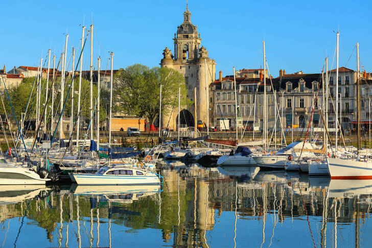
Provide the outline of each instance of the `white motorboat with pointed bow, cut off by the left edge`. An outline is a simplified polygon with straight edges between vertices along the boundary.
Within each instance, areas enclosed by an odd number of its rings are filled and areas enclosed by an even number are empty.
[[[5,160],[4,160],[5,161]],[[28,167],[0,162],[0,185],[45,185],[49,178],[41,178]]]

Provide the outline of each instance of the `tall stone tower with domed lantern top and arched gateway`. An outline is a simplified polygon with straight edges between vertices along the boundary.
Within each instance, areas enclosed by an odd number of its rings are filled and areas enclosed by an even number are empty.
[[[198,120],[206,121],[207,97],[205,78],[207,85],[214,82],[216,79],[215,68],[216,62],[208,57],[208,51],[204,47],[200,47],[200,34],[198,34],[197,26],[191,23],[191,12],[186,7],[183,13],[183,22],[177,27],[177,34],[174,34],[174,56],[171,51],[166,48],[164,50],[164,58],[161,59],[160,66],[167,66],[184,76],[185,84],[188,88],[188,98],[194,101],[194,87],[197,90],[197,117]],[[206,60],[206,72],[205,72]],[[206,73],[206,77],[205,77]],[[175,129],[180,116],[180,124],[194,126],[194,109],[193,106],[181,106],[181,112],[175,114],[176,108],[173,109],[173,114],[170,112],[162,113],[162,127],[166,127],[169,121],[169,128]],[[180,114],[180,115],[179,115]]]

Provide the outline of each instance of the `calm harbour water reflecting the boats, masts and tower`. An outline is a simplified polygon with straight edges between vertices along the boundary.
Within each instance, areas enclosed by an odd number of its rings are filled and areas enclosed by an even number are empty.
[[[372,181],[166,163],[163,186],[0,186],[0,247],[371,247]]]

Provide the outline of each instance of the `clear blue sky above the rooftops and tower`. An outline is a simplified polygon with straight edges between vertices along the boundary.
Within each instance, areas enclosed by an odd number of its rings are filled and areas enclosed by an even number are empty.
[[[69,34],[68,49],[78,48],[81,27],[95,25],[94,61],[100,53],[106,68],[113,51],[114,68],[142,63],[157,66],[165,47],[183,21],[186,1],[2,1],[0,67],[36,66],[49,48],[57,57]],[[371,1],[189,1],[191,21],[198,26],[202,45],[223,75],[257,68],[263,62],[262,40],[272,76],[318,73],[328,54],[330,64],[340,30],[340,66],[360,44],[362,69],[372,72]],[[87,48],[84,69],[88,70]],[[69,56],[68,52],[68,56]],[[331,65],[330,65],[331,67]],[[333,66],[335,67],[335,65]],[[356,69],[356,52],[347,67]]]

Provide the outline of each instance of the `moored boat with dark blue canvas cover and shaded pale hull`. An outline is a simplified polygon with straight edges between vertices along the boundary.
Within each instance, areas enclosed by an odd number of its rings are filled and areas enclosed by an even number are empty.
[[[249,148],[238,146],[236,151],[231,150],[230,154],[222,155],[217,160],[219,166],[257,166],[256,162],[250,156],[252,152]]]

